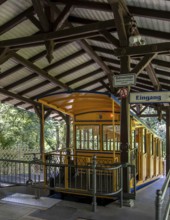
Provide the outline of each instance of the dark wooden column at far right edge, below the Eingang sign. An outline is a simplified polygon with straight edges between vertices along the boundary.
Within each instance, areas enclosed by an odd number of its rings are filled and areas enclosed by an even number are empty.
[[[166,175],[170,169],[170,106],[166,110]]]

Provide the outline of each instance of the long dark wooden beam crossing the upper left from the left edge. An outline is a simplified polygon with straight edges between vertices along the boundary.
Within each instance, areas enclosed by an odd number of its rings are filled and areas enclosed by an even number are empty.
[[[57,40],[58,42],[68,41],[68,40],[75,40],[79,36],[83,38],[85,34],[93,35],[97,31],[103,29],[110,29],[114,27],[114,21],[100,21],[97,23],[80,26],[80,27],[73,27],[64,30],[59,30],[51,33],[43,33],[37,34],[34,36],[29,37],[22,37],[10,40],[3,40],[0,41],[0,47],[11,47],[11,46],[18,46],[18,45],[27,45],[30,43],[41,43],[47,40]],[[70,39],[69,39],[70,38]]]

